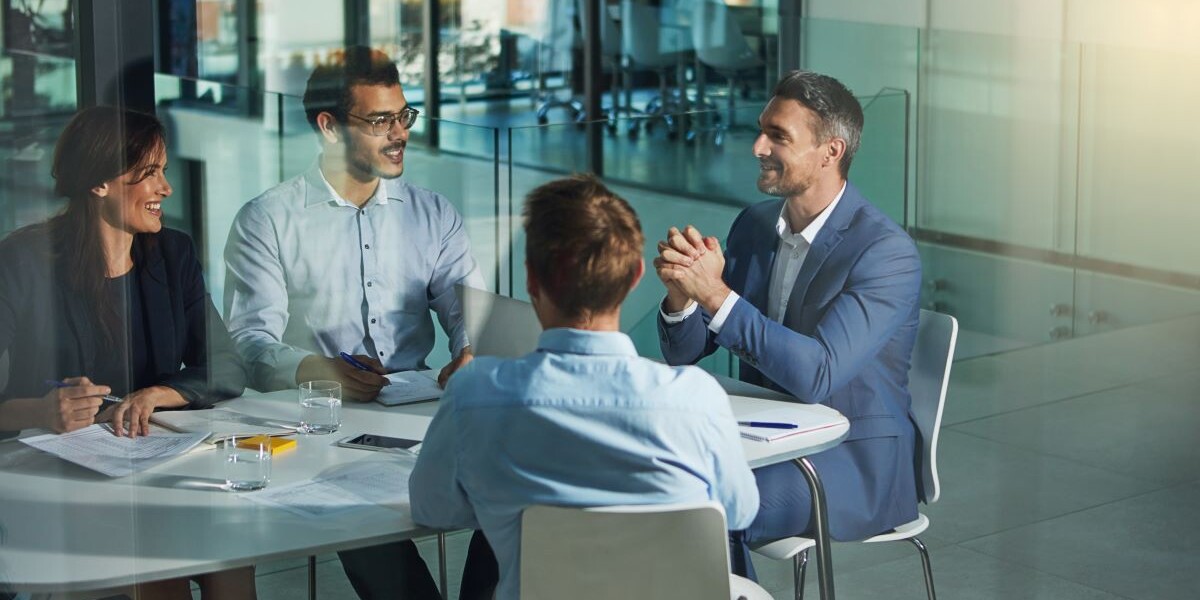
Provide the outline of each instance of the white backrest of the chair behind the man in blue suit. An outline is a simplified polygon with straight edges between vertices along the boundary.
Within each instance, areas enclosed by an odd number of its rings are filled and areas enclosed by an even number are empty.
[[[920,470],[917,473],[917,493],[925,503],[937,502],[941,484],[937,479],[937,436],[942,428],[946,389],[950,384],[954,344],[959,337],[959,322],[949,314],[920,311],[917,343],[908,367],[908,409],[917,424],[920,443]]]

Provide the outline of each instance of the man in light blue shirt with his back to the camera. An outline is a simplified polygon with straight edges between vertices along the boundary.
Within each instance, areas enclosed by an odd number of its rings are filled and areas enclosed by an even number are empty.
[[[502,600],[520,593],[529,505],[716,500],[731,528],[758,505],[725,390],[638,358],[618,329],[644,270],[629,204],[592,176],[552,181],[529,193],[524,230],[538,349],[450,380],[409,479],[415,522],[482,528]]]

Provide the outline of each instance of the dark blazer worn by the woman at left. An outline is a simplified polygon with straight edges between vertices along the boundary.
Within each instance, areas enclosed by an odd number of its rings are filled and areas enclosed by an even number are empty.
[[[0,401],[43,396],[47,379],[95,370],[100,332],[67,284],[58,244],[44,224],[0,241],[0,353],[8,352]],[[138,234],[133,260],[156,384],[179,391],[191,408],[241,395],[246,373],[204,289],[191,238],[172,229]]]

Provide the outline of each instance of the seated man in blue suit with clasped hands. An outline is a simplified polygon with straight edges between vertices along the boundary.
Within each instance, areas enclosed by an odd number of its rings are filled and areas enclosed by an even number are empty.
[[[758,190],[782,199],[742,211],[724,252],[691,226],[659,242],[662,354],[679,365],[728,348],[742,380],[846,415],[846,439],[811,461],[830,535],[868,538],[917,517],[907,383],[920,259],[912,239],[846,180],[863,110],[841,83],[788,73],[758,126]],[[758,516],[733,535],[734,571],[750,577],[749,545],[812,530],[796,466],[755,476]]]

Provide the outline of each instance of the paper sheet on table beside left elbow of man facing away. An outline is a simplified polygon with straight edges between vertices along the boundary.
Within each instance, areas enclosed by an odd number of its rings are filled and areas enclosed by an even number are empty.
[[[322,517],[380,505],[408,504],[412,460],[367,461],[317,479],[269,486],[242,498],[301,517]]]

